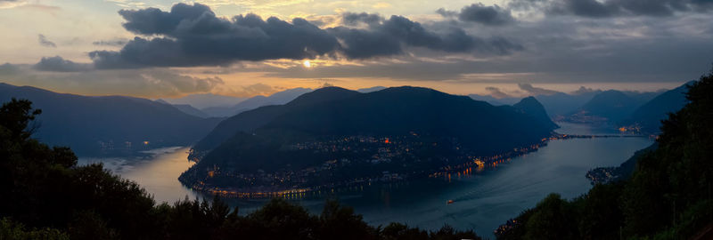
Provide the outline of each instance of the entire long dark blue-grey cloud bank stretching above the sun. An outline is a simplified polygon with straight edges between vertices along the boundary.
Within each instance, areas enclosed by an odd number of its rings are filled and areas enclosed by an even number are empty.
[[[522,49],[502,37],[481,39],[455,27],[434,32],[405,17],[384,19],[369,13],[342,15],[342,22],[355,28],[325,29],[299,18],[287,22],[247,14],[227,20],[202,4],[176,4],[170,12],[147,8],[119,14],[127,20],[124,28],[142,36],[128,41],[119,52],[90,52],[96,68],[218,66],[238,60],[301,60],[324,55],[367,59],[403,53],[405,46],[495,54]]]

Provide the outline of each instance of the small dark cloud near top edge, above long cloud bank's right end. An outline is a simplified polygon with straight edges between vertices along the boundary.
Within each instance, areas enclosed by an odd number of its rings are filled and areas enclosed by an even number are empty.
[[[486,6],[478,3],[463,7],[461,12],[449,12],[442,8],[436,12],[444,17],[457,16],[458,20],[478,22],[488,26],[500,26],[515,21],[509,9],[498,5]]]

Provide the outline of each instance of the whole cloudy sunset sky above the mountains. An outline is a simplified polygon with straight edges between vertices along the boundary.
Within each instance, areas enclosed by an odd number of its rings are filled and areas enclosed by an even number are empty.
[[[709,71],[711,23],[713,0],[0,0],[0,82],[145,98],[656,91]]]

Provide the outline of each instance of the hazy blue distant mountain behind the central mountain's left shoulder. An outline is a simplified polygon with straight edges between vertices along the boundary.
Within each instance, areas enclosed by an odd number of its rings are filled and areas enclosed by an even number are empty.
[[[205,112],[209,116],[235,116],[243,111],[254,108],[269,105],[282,105],[307,92],[312,92],[312,89],[301,87],[293,88],[283,92],[275,92],[270,96],[258,95],[250,99],[243,100],[242,102],[232,106],[202,108],[201,111]]]

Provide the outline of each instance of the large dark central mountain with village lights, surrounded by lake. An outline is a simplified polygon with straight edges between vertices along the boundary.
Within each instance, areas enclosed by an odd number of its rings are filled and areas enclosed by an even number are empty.
[[[402,178],[533,146],[552,130],[519,108],[426,88],[329,87],[218,124],[179,180],[255,192]]]

